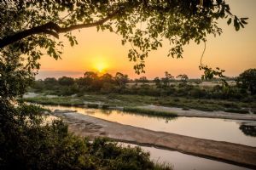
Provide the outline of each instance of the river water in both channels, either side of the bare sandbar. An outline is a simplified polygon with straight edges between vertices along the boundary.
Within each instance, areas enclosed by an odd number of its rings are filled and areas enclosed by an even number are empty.
[[[100,109],[59,105],[44,105],[44,108],[48,108],[51,111],[73,110],[104,120],[119,122],[134,127],[143,127],[154,131],[177,133],[201,139],[213,139],[237,144],[246,144],[254,147],[256,146],[256,138],[250,133],[243,132],[245,131],[241,130],[241,122],[243,121],[238,120],[199,117],[176,117],[173,119],[165,119],[162,117],[143,116],[124,111],[104,111]],[[131,145],[135,146],[135,144]],[[177,151],[160,150],[154,147],[145,146],[142,146],[142,148],[143,150],[150,152],[150,156],[153,161],[172,164],[175,170],[247,169],[245,167],[238,167],[220,161],[212,161],[197,156],[189,156]]]

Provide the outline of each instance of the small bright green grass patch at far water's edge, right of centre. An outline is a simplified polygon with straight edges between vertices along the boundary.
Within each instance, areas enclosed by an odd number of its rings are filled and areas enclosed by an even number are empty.
[[[167,112],[167,111],[154,111],[154,110],[148,110],[148,109],[142,109],[137,107],[124,107],[123,111],[128,111],[132,113],[138,113],[138,114],[144,114],[148,116],[164,116],[164,117],[174,117],[177,116],[176,113]]]

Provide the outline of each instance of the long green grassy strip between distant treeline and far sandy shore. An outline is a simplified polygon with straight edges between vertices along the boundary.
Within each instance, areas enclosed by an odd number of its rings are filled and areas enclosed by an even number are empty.
[[[86,94],[79,97],[60,96],[57,98],[47,98],[43,94],[24,99],[27,102],[38,103],[42,105],[67,105],[79,106],[84,105],[84,102],[100,102],[102,105],[109,107],[122,106],[134,107],[142,105],[160,105],[166,107],[178,107],[195,109],[199,111],[226,111],[234,113],[248,113],[249,108],[256,109],[256,102],[240,102],[217,99],[187,99],[182,97],[153,97],[143,95],[130,94]],[[94,106],[94,105],[92,105]],[[90,107],[90,105],[89,105]]]

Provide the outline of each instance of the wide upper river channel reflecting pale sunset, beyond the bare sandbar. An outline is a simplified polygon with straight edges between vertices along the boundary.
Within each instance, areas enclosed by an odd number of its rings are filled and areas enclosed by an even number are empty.
[[[111,122],[119,122],[134,127],[143,127],[149,130],[177,133],[201,139],[246,144],[256,147],[256,138],[252,129],[241,127],[241,121],[212,119],[202,117],[177,117],[166,119],[156,116],[145,116],[124,111],[108,111],[68,106],[45,106],[50,110],[76,110],[79,113],[95,116]],[[249,121],[247,121],[249,122]],[[241,127],[241,128],[240,128]],[[244,129],[244,130],[241,130]],[[255,130],[255,129],[254,129]],[[246,133],[245,133],[246,132]],[[255,133],[254,133],[255,134]]]

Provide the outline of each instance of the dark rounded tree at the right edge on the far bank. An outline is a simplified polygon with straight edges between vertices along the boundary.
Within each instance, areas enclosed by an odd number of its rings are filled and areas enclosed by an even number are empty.
[[[256,69],[243,71],[239,77],[236,78],[236,85],[239,88],[249,90],[252,95],[256,94]]]

